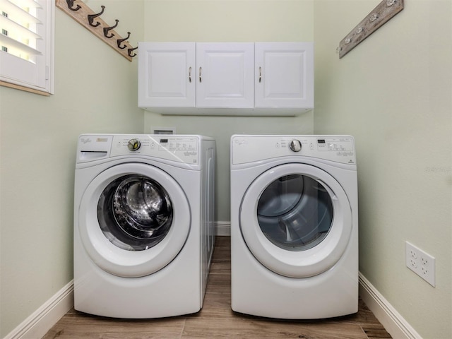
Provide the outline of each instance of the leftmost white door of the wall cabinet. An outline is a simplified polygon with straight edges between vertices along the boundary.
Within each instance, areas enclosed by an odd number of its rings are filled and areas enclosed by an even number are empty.
[[[138,107],[195,107],[194,42],[140,42]]]

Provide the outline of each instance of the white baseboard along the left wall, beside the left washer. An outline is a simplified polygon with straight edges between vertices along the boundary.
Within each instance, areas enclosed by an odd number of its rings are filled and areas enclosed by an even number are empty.
[[[73,307],[73,280],[14,328],[4,339],[42,338]]]

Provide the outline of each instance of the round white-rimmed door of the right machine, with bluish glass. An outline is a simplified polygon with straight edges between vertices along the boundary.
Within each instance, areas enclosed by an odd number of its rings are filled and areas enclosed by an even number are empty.
[[[333,267],[352,230],[342,186],[323,169],[300,163],[259,175],[246,190],[239,213],[242,236],[254,257],[292,278]]]

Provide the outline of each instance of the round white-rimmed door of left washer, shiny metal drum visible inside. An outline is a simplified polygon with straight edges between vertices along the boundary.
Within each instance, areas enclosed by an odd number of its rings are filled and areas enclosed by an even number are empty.
[[[78,213],[90,258],[102,270],[128,278],[170,263],[184,246],[191,222],[179,184],[157,167],[133,162],[98,174]]]

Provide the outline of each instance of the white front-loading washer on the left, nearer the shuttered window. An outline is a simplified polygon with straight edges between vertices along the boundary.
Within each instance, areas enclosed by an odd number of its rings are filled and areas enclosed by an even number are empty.
[[[74,201],[74,308],[158,318],[203,306],[215,242],[215,141],[83,134]]]

